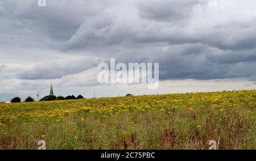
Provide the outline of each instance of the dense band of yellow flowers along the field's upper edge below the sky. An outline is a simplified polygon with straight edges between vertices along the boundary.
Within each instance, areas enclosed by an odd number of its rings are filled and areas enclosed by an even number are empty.
[[[56,118],[61,121],[77,115],[84,121],[85,115],[89,114],[111,117],[135,110],[159,110],[168,113],[169,109],[184,108],[193,111],[209,105],[223,112],[225,108],[236,107],[241,103],[255,108],[255,102],[256,91],[249,90],[0,104],[0,126],[16,120],[26,122]]]

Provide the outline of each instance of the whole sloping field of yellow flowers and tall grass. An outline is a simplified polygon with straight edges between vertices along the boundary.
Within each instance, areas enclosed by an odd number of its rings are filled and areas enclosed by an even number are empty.
[[[256,91],[0,104],[0,149],[256,149]]]

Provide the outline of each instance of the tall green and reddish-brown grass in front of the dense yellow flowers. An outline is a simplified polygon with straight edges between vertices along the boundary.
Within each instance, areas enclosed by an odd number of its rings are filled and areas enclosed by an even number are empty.
[[[38,149],[40,139],[47,149],[208,149],[210,140],[218,149],[256,149],[256,109],[245,104],[40,119],[0,126],[0,149]]]

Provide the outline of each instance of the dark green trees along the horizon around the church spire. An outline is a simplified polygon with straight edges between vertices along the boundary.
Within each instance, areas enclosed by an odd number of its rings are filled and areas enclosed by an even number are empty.
[[[74,95],[69,95],[69,96],[55,96],[55,95],[49,95],[49,96],[45,96],[44,98],[40,99],[39,101],[53,101],[53,100],[76,100],[76,99],[84,99],[84,97],[82,95],[79,96],[74,96]],[[35,101],[33,98],[31,98],[31,96],[28,96],[24,102],[32,102]],[[11,103],[20,103],[21,99],[19,97],[15,97],[13,99],[11,99]]]

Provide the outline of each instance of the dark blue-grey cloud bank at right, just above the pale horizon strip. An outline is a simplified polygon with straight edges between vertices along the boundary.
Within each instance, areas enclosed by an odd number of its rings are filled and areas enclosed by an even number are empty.
[[[205,46],[170,48],[159,56],[162,79],[250,78],[256,75],[255,50],[223,52]],[[191,49],[191,50],[190,50]],[[174,52],[175,51],[175,52]]]

